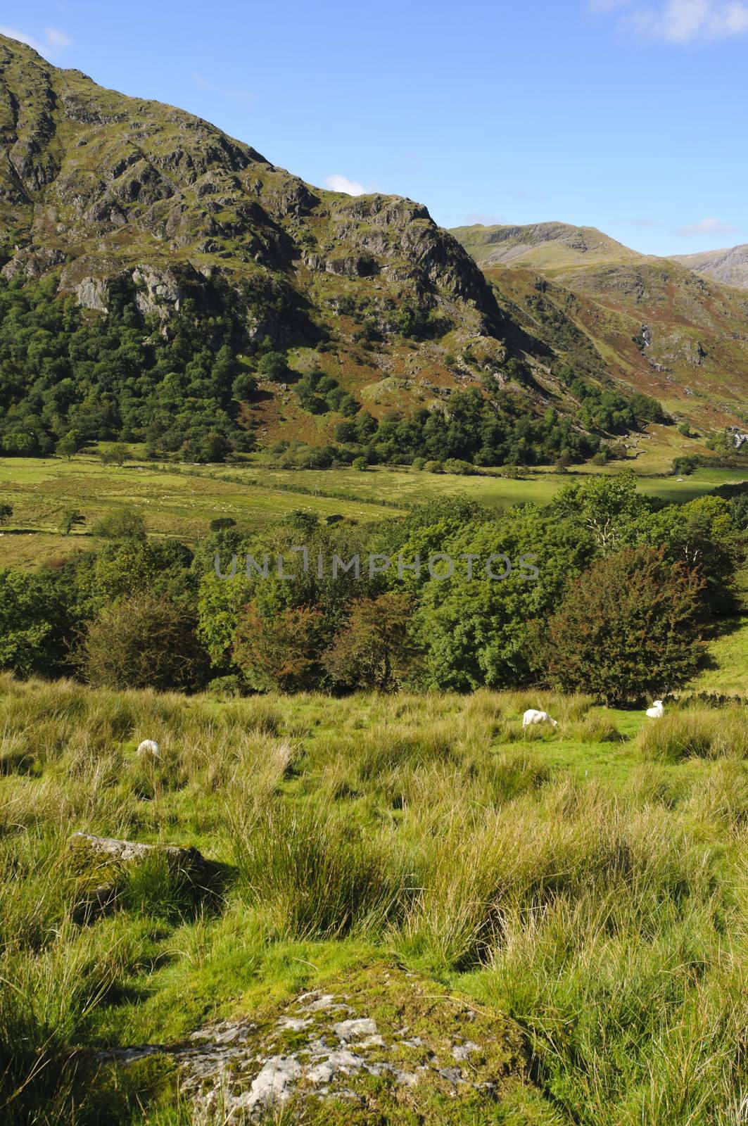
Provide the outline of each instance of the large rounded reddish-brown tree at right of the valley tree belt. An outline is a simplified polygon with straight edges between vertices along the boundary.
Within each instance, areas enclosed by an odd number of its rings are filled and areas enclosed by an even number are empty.
[[[606,704],[660,697],[689,680],[703,652],[702,580],[664,548],[625,548],[596,560],[568,590],[537,653],[564,691]]]

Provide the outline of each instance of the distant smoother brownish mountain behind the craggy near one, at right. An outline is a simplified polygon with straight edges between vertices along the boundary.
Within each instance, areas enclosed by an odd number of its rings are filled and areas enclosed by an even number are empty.
[[[618,384],[703,430],[748,406],[748,296],[673,259],[639,254],[591,227],[542,223],[453,231],[505,314],[526,332],[597,359]],[[573,343],[572,343],[573,341]]]

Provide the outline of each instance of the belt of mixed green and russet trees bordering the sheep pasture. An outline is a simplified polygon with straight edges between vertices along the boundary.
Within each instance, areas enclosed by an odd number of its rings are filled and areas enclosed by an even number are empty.
[[[98,552],[0,572],[0,668],[114,688],[639,699],[691,679],[736,611],[747,503],[740,486],[665,504],[623,474],[546,508],[445,500],[376,526],[297,511],[253,534],[219,520],[194,548],[150,540],[123,510],[94,529]]]

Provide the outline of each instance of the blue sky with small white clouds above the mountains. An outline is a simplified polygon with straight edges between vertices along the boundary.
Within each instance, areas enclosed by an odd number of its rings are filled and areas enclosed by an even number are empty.
[[[661,254],[748,242],[741,0],[27,0],[0,29],[445,226],[561,220]]]

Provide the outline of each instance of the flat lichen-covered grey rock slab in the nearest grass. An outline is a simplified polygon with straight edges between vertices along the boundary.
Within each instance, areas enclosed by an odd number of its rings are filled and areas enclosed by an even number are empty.
[[[211,1126],[275,1120],[282,1108],[288,1120],[335,1126],[488,1124],[505,1097],[515,1105],[533,1085],[518,1029],[435,983],[380,965],[326,985],[250,1020],[208,1025],[185,1044],[99,1060],[171,1057],[193,1120]]]

